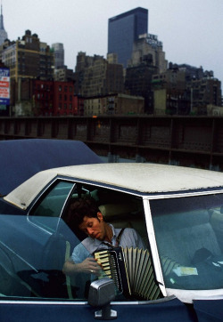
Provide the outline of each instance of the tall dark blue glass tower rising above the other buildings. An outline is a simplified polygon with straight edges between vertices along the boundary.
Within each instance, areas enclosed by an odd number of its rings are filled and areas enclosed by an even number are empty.
[[[109,19],[108,53],[117,53],[118,62],[127,67],[133,44],[139,35],[148,33],[148,10],[136,8]]]

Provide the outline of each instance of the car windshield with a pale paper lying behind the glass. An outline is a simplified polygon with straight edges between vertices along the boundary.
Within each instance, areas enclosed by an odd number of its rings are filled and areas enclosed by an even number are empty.
[[[186,290],[223,287],[223,195],[151,201],[165,286]]]

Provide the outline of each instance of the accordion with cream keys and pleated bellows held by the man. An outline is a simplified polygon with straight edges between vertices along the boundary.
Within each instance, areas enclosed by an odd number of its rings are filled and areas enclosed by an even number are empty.
[[[138,300],[159,297],[161,291],[147,249],[117,247],[95,252],[95,259],[124,296]]]

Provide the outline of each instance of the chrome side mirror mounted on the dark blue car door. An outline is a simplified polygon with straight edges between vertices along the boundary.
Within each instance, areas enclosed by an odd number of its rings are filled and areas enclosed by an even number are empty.
[[[97,279],[91,283],[88,294],[88,303],[91,306],[99,307],[95,311],[96,319],[117,318],[117,312],[111,310],[110,302],[115,298],[115,285],[111,278]]]

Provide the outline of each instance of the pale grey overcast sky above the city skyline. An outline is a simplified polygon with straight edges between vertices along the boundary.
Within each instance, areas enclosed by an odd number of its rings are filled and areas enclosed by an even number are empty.
[[[65,65],[74,69],[78,52],[102,55],[108,20],[148,9],[148,32],[163,44],[166,60],[213,70],[223,83],[223,0],[1,0],[10,40],[36,33],[49,45],[62,43]],[[222,87],[222,86],[221,86]]]

